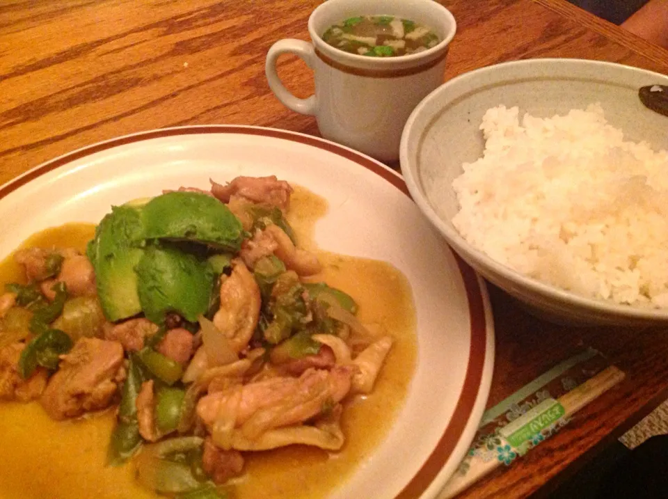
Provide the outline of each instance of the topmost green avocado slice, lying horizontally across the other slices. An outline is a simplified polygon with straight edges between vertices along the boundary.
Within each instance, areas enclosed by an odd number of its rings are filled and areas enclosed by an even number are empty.
[[[197,192],[169,192],[142,209],[147,239],[200,241],[239,251],[244,239],[241,222],[212,196]]]

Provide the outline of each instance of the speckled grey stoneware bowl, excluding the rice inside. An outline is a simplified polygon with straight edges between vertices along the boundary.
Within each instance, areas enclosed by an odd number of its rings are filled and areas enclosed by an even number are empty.
[[[668,310],[634,308],[587,299],[527,278],[466,242],[451,223],[459,210],[452,180],[464,162],[482,156],[479,129],[491,107],[519,106],[520,116],[548,117],[600,103],[625,140],[668,150],[668,117],[647,109],[638,89],[667,85],[663,74],[579,59],[532,59],[493,65],[456,77],[420,102],[401,136],[401,170],[422,212],[461,258],[532,312],[571,325],[642,326],[668,322]]]

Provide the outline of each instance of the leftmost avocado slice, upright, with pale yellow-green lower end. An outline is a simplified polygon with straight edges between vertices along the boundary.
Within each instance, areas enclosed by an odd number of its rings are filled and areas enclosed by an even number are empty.
[[[141,212],[123,205],[112,207],[104,216],[86,249],[95,268],[102,310],[112,322],[141,312],[134,269],[143,255],[143,244]]]

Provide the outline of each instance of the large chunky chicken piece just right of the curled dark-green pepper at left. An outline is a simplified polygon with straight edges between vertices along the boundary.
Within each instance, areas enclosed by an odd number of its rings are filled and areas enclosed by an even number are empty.
[[[122,381],[122,363],[119,342],[81,338],[62,356],[58,372],[42,393],[42,406],[55,420],[104,409]]]

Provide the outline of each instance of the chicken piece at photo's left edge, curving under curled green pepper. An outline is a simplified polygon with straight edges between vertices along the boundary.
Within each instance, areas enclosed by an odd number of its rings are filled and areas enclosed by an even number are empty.
[[[12,343],[0,349],[0,400],[29,402],[42,395],[49,372],[38,367],[28,379],[19,374],[19,358],[25,343]]]

